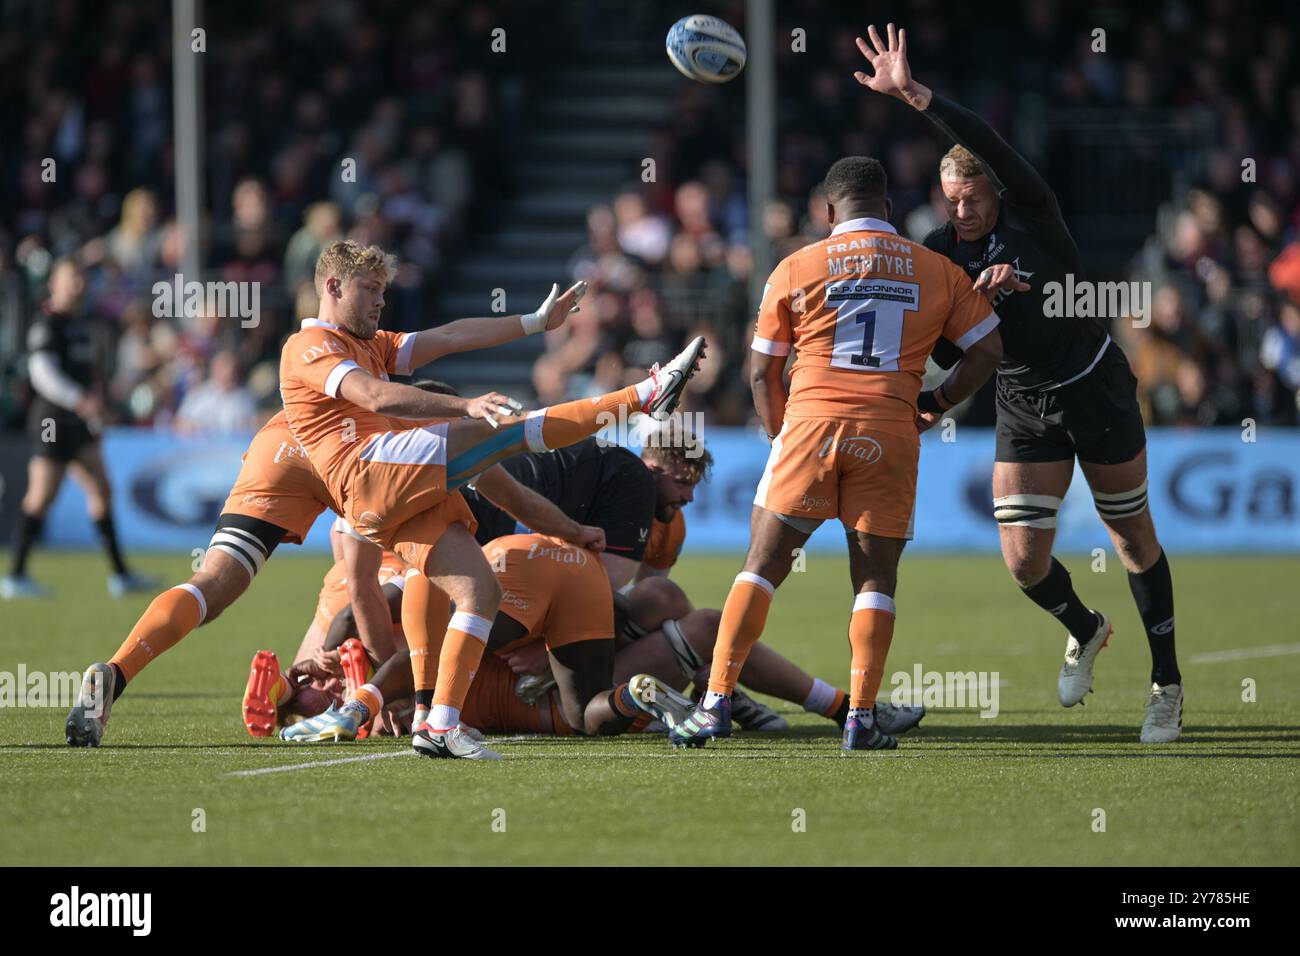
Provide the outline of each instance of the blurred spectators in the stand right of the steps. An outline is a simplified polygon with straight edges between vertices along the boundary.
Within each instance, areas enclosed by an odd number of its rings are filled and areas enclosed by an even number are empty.
[[[907,7],[881,12],[878,26],[885,16],[907,26],[913,73],[979,111],[1031,155],[1015,133],[1026,116],[1045,111],[1164,108],[1214,117],[1216,138],[1197,144],[1191,189],[1174,187],[1160,156],[1134,156],[1131,169],[1121,169],[1158,183],[1149,215],[1154,229],[1145,243],[1140,234],[1132,241],[1127,268],[1126,254],[1119,268],[1089,277],[1150,284],[1149,325],[1112,323],[1150,424],[1239,424],[1245,418],[1297,424],[1300,31],[1294,10],[1228,0]],[[736,4],[720,14],[742,22]],[[785,43],[800,27],[806,53]],[[1092,48],[1096,27],[1106,31],[1104,53]],[[948,144],[924,117],[853,79],[863,66],[854,36],[864,29],[866,21],[828,26],[815,0],[777,8],[780,198],[759,224],[774,261],[828,234],[818,183],[841,155],[885,163],[904,234],[919,239],[945,221],[937,166]],[[967,40],[976,35],[978,44]],[[601,390],[630,377],[644,356],[702,332],[715,355],[699,382],[710,420],[750,420],[745,355],[753,316],[745,285],[753,261],[742,94],[740,83],[685,85],[676,122],[656,150],[667,157],[658,182],[637,183],[590,211],[588,245],[573,258],[573,274],[593,284],[595,308],[571,330],[552,333],[534,376],[540,393]],[[1034,157],[1067,221],[1105,202],[1095,183],[1078,182],[1078,161],[1050,151]],[[1243,181],[1247,157],[1253,161]],[[1113,161],[1123,168],[1130,157]],[[1093,260],[1109,251],[1089,250],[1082,237],[1080,245],[1086,265],[1089,251]],[[992,424],[991,390],[967,410],[972,424]]]

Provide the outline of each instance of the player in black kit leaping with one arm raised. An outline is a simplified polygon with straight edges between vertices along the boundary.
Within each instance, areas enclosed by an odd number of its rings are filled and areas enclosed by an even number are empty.
[[[1092,667],[1110,639],[1110,619],[1089,610],[1070,572],[1052,555],[1057,511],[1079,459],[1115,553],[1128,571],[1150,649],[1150,689],[1143,743],[1178,740],[1183,679],[1174,650],[1174,584],[1147,501],[1147,433],[1128,360],[1096,319],[1044,307],[1044,286],[1083,278],[1083,263],[1052,187],[975,113],[916,82],[907,65],[906,31],[888,27],[881,42],[858,48],[874,75],[859,83],[902,100],[957,140],[944,156],[940,183],[949,222],[926,237],[996,304],[1006,355],[997,375],[997,462],[993,515],[1002,557],[1036,605],[1067,631],[1057,679],[1063,706],[1092,691]],[[1060,285],[1057,286],[1060,287]],[[1118,317],[1118,316],[1117,316]],[[936,358],[945,351],[940,342]],[[948,363],[950,364],[950,362]],[[954,405],[952,394],[933,407]]]

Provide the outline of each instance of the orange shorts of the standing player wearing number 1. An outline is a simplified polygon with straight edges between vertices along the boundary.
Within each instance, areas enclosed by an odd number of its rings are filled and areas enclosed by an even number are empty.
[[[785,418],[754,503],[792,518],[910,538],[920,434],[902,421]]]

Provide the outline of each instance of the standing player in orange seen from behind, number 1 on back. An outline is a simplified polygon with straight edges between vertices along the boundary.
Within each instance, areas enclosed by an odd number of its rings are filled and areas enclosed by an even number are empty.
[[[959,402],[1002,355],[997,315],[961,269],[889,225],[884,166],[841,159],[826,177],[829,238],[781,261],[750,352],[754,405],[772,451],[754,497],[745,567],[723,606],[708,691],[673,727],[676,747],[731,735],[731,695],[793,555],[827,518],[848,532],[849,719],[845,750],[897,747],[875,711],[893,639],[898,559],[911,537],[926,359],[939,336],[965,350],[942,384]],[[786,358],[797,351],[789,394]]]

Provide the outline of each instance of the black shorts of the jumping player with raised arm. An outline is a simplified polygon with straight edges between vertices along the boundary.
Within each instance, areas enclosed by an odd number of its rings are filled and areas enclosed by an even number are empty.
[[[1147,446],[1138,380],[1114,342],[1088,375],[1049,392],[997,382],[997,460],[1119,464]]]

